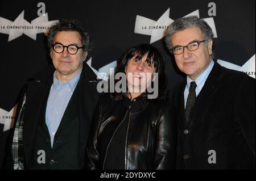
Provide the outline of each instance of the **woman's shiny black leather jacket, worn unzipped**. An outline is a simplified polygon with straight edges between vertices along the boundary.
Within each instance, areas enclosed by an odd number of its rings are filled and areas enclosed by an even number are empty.
[[[134,101],[140,101],[143,108],[131,110]],[[125,169],[174,169],[176,124],[167,103],[139,98],[129,102],[130,106],[127,106],[127,100],[112,100],[105,96],[98,103],[86,148],[89,169],[105,169],[110,142],[127,118]]]

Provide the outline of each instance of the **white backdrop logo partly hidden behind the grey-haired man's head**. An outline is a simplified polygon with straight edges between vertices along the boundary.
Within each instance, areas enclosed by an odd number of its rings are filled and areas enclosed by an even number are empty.
[[[199,10],[193,11],[186,16],[195,15],[199,17]],[[145,18],[143,16],[137,15],[135,21],[134,33],[138,33],[141,35],[149,35],[151,36],[150,44],[158,41],[164,37],[164,31],[167,29],[168,25],[174,22],[170,17],[170,8],[164,12],[164,14],[157,20],[152,20]],[[217,31],[213,18],[204,18],[204,20],[209,24],[212,28],[214,37],[217,37]]]

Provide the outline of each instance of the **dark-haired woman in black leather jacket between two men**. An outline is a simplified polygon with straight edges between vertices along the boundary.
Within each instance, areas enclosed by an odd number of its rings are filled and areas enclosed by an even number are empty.
[[[174,169],[176,125],[161,99],[166,76],[159,50],[148,44],[131,48],[117,73],[125,75],[121,87],[127,88],[117,91],[116,83],[115,92],[102,96],[94,111],[86,148],[89,169]]]

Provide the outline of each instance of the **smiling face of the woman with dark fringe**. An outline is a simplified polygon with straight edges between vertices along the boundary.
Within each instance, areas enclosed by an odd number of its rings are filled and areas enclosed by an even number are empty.
[[[126,65],[125,74],[129,92],[143,92],[154,78],[155,66],[152,60],[147,60],[147,54],[139,60],[135,54]]]

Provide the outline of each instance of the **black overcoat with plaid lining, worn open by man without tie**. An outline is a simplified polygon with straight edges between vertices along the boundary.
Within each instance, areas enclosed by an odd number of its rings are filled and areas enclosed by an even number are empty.
[[[42,120],[42,110],[46,110],[43,105],[48,99],[48,92],[53,83],[53,73],[55,68],[50,66],[42,72],[34,75],[27,81],[27,100],[24,114],[23,125],[23,150],[25,163],[29,163],[32,151],[34,148],[34,141],[36,135],[36,128],[39,120]],[[26,89],[22,90],[20,94],[20,100],[18,102],[17,113],[20,110],[20,104]],[[79,165],[84,167],[85,163],[85,147],[89,135],[90,124],[92,121],[92,115],[94,108],[98,102],[99,94],[97,92],[97,77],[93,73],[92,69],[84,63],[82,73],[80,77],[80,86],[78,90],[79,100]],[[45,112],[43,113],[45,115]],[[17,117],[17,116],[16,116]],[[10,139],[9,149],[11,148]],[[7,167],[13,167],[10,159],[10,151],[7,155]]]

